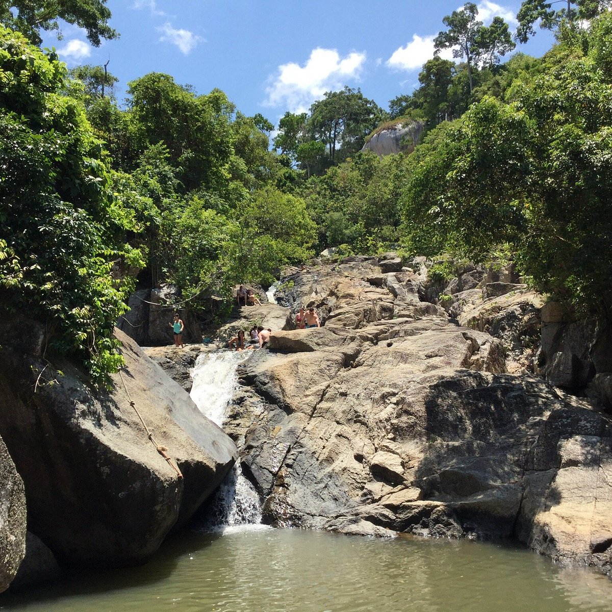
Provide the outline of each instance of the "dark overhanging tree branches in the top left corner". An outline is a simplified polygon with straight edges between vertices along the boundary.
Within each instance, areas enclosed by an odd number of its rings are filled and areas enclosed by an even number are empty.
[[[41,30],[56,30],[61,38],[58,20],[64,20],[83,28],[89,42],[99,47],[101,39],[119,36],[108,25],[111,12],[105,4],[106,0],[0,0],[0,23],[40,45]]]

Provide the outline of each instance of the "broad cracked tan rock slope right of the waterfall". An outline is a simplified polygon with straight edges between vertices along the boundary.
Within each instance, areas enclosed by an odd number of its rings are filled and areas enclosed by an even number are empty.
[[[325,326],[275,332],[242,368],[226,424],[245,441],[265,520],[517,537],[610,574],[610,417],[520,368],[507,373],[504,343],[478,328],[505,334],[512,324],[496,316],[514,307],[529,327],[517,305],[535,297],[524,288],[477,289],[480,312],[460,326],[419,301],[424,267],[384,272],[348,258],[289,275],[279,302],[315,305]]]

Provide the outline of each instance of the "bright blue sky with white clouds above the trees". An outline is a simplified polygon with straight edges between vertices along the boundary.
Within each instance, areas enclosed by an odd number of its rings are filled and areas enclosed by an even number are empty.
[[[360,87],[383,108],[418,84],[442,18],[457,0],[108,0],[118,40],[99,48],[84,32],[62,28],[56,47],[69,67],[104,64],[119,78],[119,102],[129,81],[165,72],[198,94],[226,92],[238,110],[276,123],[286,110],[307,110],[325,91]],[[510,24],[520,0],[478,3],[479,19],[502,15]],[[539,56],[553,40],[539,31],[517,50]],[[447,53],[449,53],[447,51]],[[450,55],[449,55],[450,57]]]

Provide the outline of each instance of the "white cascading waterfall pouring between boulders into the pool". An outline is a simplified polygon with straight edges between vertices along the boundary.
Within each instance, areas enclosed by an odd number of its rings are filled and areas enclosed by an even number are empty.
[[[238,384],[237,367],[252,351],[215,351],[200,355],[192,370],[192,400],[204,416],[223,427],[227,408]],[[261,523],[261,507],[255,487],[242,475],[240,463],[219,487],[205,529]]]

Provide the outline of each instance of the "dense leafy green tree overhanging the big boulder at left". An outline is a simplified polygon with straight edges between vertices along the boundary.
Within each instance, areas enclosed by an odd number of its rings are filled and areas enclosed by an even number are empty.
[[[80,102],[61,94],[65,65],[0,26],[0,311],[45,326],[51,351],[76,357],[97,383],[122,358],[113,327],[140,266],[140,231],[114,193],[102,143]]]

